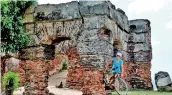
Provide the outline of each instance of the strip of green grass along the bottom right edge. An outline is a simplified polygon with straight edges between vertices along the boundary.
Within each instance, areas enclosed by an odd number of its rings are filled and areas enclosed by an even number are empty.
[[[112,95],[118,95],[112,92]],[[157,92],[157,91],[128,91],[128,95],[172,95],[172,92]]]

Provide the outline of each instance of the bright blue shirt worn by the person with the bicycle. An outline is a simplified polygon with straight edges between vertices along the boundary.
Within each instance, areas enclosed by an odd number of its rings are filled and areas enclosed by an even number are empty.
[[[114,73],[121,73],[121,65],[123,61],[120,59],[118,62],[116,61],[116,57],[113,58],[113,65],[112,65],[112,70]]]

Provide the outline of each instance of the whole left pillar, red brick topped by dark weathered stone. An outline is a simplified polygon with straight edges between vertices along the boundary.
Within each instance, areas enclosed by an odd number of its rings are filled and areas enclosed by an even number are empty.
[[[20,73],[24,74],[23,95],[48,95],[48,76],[54,46],[44,45],[22,49],[20,54]]]

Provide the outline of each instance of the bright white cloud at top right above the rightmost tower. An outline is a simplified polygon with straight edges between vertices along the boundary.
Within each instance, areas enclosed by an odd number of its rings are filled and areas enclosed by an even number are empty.
[[[166,0],[129,0],[128,11],[134,14],[157,12],[165,6]]]

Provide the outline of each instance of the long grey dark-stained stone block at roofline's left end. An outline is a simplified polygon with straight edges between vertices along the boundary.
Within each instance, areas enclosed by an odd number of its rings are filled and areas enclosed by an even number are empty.
[[[34,17],[38,21],[81,18],[77,1],[58,5],[38,5]]]

